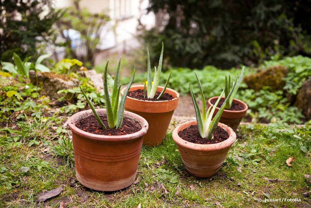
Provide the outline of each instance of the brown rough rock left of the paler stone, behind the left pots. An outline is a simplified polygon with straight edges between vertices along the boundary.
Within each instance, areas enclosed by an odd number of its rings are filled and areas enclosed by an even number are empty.
[[[54,99],[58,99],[65,95],[64,93],[57,94],[58,90],[72,89],[79,86],[79,80],[53,72],[37,71],[36,77],[35,71],[30,70],[29,78],[33,85],[41,87],[41,95],[49,96]]]

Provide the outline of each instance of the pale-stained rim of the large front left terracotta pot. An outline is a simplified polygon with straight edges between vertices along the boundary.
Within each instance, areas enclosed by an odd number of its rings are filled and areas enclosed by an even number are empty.
[[[104,109],[104,108],[95,109],[95,110],[96,110],[96,112],[101,111],[101,112],[106,113],[106,109]],[[149,127],[148,122],[143,117],[141,117],[137,114],[134,114],[132,112],[129,112],[129,111],[124,111],[124,118],[134,118],[134,120],[137,120],[142,127],[141,130],[139,130],[138,132],[134,132],[131,134],[126,134],[126,135],[120,135],[120,136],[119,135],[118,136],[107,136],[107,135],[99,135],[99,134],[88,133],[88,132],[85,132],[85,131],[79,129],[75,125],[76,120],[79,120],[81,118],[85,118],[83,116],[87,115],[87,114],[93,114],[93,111],[91,109],[83,110],[83,111],[80,111],[76,114],[73,114],[68,119],[68,126],[72,130],[72,132],[77,133],[80,136],[86,137],[86,138],[102,140],[102,141],[112,141],[112,140],[113,141],[124,141],[124,140],[134,139],[134,138],[138,138],[138,137],[143,136],[144,134],[147,133],[147,130]]]

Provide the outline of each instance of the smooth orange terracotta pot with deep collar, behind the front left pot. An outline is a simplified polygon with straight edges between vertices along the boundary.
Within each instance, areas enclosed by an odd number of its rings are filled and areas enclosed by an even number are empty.
[[[135,85],[130,91],[144,89],[144,85]],[[163,87],[158,87],[157,91],[162,91]],[[121,90],[123,95],[125,88]],[[174,110],[178,106],[179,94],[173,89],[166,88],[165,93],[171,94],[174,99],[165,101],[144,101],[128,97],[125,101],[125,110],[142,116],[149,123],[149,129],[144,136],[143,145],[156,146],[163,142],[167,128],[172,119]]]

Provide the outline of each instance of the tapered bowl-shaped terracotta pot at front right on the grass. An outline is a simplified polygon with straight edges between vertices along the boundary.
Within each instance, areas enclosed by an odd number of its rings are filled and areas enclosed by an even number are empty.
[[[196,124],[197,121],[180,124],[173,131],[173,139],[188,172],[196,177],[211,177],[219,171],[220,166],[225,162],[226,155],[234,143],[236,135],[232,128],[223,123],[218,123],[219,127],[228,132],[229,138],[217,144],[195,144],[178,136],[179,131]]]

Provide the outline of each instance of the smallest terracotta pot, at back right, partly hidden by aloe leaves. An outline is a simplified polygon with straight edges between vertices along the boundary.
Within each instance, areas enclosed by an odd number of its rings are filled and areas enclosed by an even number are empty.
[[[225,97],[222,97],[222,98],[225,99]],[[212,97],[212,98],[208,99],[207,108],[209,108],[212,105],[211,101],[213,99],[218,99],[218,97]],[[243,110],[237,110],[237,111],[225,109],[224,112],[222,112],[222,115],[221,115],[219,122],[230,126],[234,131],[236,131],[241,120],[246,116],[246,111],[248,109],[248,106],[243,101],[235,99],[235,98],[233,99],[233,103],[238,103],[238,104],[242,105],[244,107],[244,109]],[[216,113],[218,112],[218,110],[219,110],[219,108],[216,107],[216,110],[213,114],[213,118],[216,115]]]

